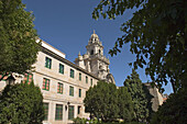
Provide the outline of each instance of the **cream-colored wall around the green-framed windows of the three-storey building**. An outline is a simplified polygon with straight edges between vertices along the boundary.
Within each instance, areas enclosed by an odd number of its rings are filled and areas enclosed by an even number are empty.
[[[45,67],[45,57],[52,59],[52,68]],[[59,64],[64,65],[64,75],[58,72]],[[90,79],[92,79],[92,86],[97,84],[97,79],[85,74],[84,71],[77,70],[76,68],[59,61],[58,59],[40,52],[37,55],[37,61],[33,65],[35,67],[35,72],[33,72],[34,83],[41,88],[44,97],[44,102],[48,103],[48,120],[44,123],[62,124],[69,123],[68,121],[68,110],[65,110],[67,102],[74,105],[74,116],[77,117],[88,117],[89,114],[85,113],[84,98],[86,97],[86,91],[90,87]],[[70,69],[74,69],[74,78],[70,78]],[[79,72],[81,74],[81,81],[79,81]],[[88,83],[86,83],[86,76],[88,77]],[[50,91],[42,90],[43,78],[50,79]],[[64,84],[63,94],[57,93],[57,83],[62,82]],[[74,87],[74,97],[69,95],[69,86]],[[78,97],[79,89],[81,89],[81,98]],[[63,104],[63,121],[55,121],[55,109],[56,104]],[[77,115],[77,108],[80,105],[80,114]]]

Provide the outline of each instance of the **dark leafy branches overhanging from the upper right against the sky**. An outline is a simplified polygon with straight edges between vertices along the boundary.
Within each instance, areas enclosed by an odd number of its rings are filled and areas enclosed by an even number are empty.
[[[133,18],[121,25],[124,35],[109,53],[117,55],[123,44],[131,43],[130,50],[136,55],[134,68],[145,66],[145,74],[160,89],[168,80],[174,92],[186,87],[185,0],[101,0],[92,18],[97,20],[100,13],[105,19],[114,19],[133,8],[138,8]]]

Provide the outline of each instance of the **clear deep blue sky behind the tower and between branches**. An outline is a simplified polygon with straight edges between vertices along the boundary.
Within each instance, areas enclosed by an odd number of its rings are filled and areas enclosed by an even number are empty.
[[[105,55],[110,59],[110,72],[117,86],[123,86],[132,72],[129,63],[135,60],[130,53],[130,46],[124,45],[122,53],[111,57],[108,52],[123,33],[120,25],[132,18],[134,10],[127,10],[123,16],[116,20],[94,20],[91,13],[99,0],[23,0],[26,11],[33,11],[35,29],[42,40],[66,54],[66,59],[74,61],[78,53],[86,53],[86,45],[92,31],[96,31],[105,47]],[[151,81],[144,69],[138,69],[143,82]],[[170,93],[170,84],[165,87],[165,93]]]

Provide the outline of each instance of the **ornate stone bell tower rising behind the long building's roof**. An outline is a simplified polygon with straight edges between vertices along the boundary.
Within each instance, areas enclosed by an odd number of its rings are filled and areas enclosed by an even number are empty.
[[[87,71],[94,74],[101,80],[116,83],[113,76],[110,74],[110,61],[103,55],[103,46],[99,36],[95,33],[91,34],[88,45],[86,46],[87,53],[85,55],[78,54],[75,64]]]

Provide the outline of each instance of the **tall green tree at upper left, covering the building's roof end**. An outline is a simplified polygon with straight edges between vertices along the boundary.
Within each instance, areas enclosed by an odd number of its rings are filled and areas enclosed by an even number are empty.
[[[3,77],[24,74],[36,61],[40,43],[35,42],[34,18],[24,8],[22,0],[0,0],[0,75]]]

